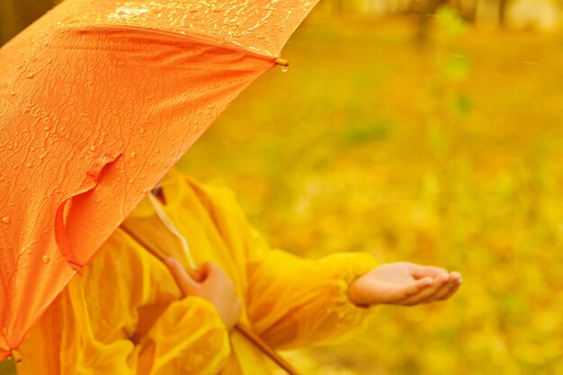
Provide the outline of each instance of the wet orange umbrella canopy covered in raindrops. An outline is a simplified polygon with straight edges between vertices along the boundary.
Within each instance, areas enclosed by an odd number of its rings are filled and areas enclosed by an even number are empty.
[[[0,49],[0,359],[317,0],[67,0]]]

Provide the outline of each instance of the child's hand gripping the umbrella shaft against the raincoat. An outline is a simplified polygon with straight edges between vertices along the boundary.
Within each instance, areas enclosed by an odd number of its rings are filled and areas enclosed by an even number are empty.
[[[219,316],[230,330],[237,324],[242,304],[235,286],[227,274],[214,263],[203,263],[194,277],[184,270],[182,263],[168,258],[166,265],[184,296],[199,296],[217,308]]]

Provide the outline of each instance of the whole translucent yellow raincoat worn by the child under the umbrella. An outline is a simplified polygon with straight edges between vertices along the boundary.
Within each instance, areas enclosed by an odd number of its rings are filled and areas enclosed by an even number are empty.
[[[360,326],[369,309],[347,290],[375,266],[369,254],[312,261],[271,250],[224,189],[171,172],[166,215],[196,263],[219,265],[243,301],[241,321],[276,349],[329,344]],[[150,246],[188,267],[182,246],[150,201],[128,219]],[[20,375],[269,374],[275,365],[205,299],[181,297],[156,257],[118,229],[58,296],[20,348]]]

